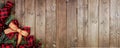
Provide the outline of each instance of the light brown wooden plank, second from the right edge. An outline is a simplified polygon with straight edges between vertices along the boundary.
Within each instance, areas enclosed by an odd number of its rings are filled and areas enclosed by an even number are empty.
[[[109,47],[109,0],[99,0],[99,47]]]

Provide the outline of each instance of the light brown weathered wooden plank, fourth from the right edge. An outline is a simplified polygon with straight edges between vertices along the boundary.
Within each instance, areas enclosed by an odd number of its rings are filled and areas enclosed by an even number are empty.
[[[77,10],[78,47],[86,46],[88,28],[88,0],[78,0]]]

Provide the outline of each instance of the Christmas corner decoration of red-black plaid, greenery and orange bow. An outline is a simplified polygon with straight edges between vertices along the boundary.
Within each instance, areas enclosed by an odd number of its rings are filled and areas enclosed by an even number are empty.
[[[41,40],[30,35],[30,27],[22,27],[11,13],[8,1],[0,9],[0,48],[43,48]]]

